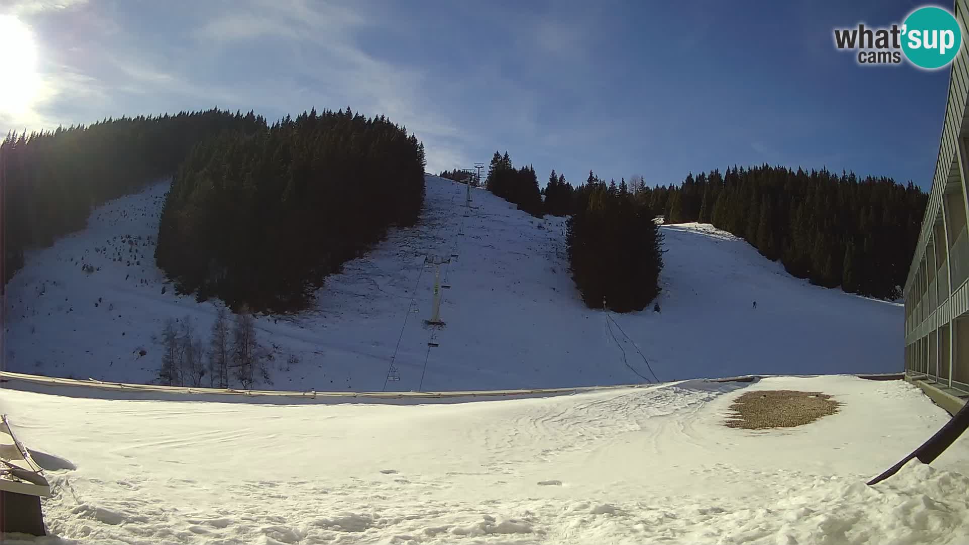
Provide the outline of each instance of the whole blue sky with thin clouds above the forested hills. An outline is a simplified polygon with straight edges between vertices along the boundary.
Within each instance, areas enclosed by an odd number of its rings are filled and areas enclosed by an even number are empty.
[[[542,179],[666,184],[766,162],[927,188],[948,69],[862,67],[832,39],[921,5],[5,0],[36,81],[26,104],[0,104],[0,131],[350,105],[415,132],[434,172],[500,149]]]

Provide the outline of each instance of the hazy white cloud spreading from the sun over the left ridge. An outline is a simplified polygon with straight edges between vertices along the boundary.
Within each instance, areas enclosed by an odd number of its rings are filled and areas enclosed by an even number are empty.
[[[23,0],[13,8],[41,14],[83,3]],[[184,34],[160,44],[146,43],[130,25],[115,24],[109,36],[87,36],[79,45],[82,55],[65,55],[62,48],[63,62],[48,65],[46,96],[31,112],[16,119],[0,118],[0,128],[52,128],[59,122],[87,123],[108,115],[163,112],[172,106],[253,109],[271,119],[278,112],[349,104],[358,112],[386,114],[417,134],[425,145],[429,170],[469,164],[464,149],[478,137],[441,112],[435,96],[441,85],[434,81],[439,77],[382,59],[359,44],[359,31],[392,24],[386,16],[363,13],[360,10],[366,7],[359,4],[306,0],[229,5],[231,9],[208,3],[193,6]],[[91,20],[104,18],[106,24],[114,24],[111,9],[89,7],[86,16]],[[50,44],[56,43],[55,37],[50,39]],[[252,71],[219,68],[237,65],[239,55],[248,54],[253,46],[265,48],[266,54],[254,59]],[[247,53],[239,52],[243,50]],[[450,87],[444,92],[449,91],[463,92]]]

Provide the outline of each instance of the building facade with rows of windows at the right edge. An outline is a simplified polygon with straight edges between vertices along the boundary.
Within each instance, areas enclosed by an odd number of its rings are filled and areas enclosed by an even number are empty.
[[[969,0],[954,11],[969,29]],[[954,397],[969,397],[969,63],[964,41],[950,68],[932,189],[905,281],[905,369]]]

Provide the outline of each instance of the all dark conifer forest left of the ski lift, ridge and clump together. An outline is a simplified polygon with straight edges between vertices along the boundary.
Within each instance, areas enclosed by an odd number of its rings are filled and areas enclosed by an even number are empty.
[[[405,128],[349,107],[271,126],[209,110],[11,133],[0,144],[4,284],[24,251],[173,176],[155,257],[176,287],[234,308],[295,309],[389,226],[417,221],[424,166]]]

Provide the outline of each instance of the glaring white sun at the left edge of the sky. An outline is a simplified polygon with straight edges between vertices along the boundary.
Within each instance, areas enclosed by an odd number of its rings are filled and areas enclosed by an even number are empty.
[[[0,36],[6,45],[0,52],[0,112],[26,112],[41,87],[34,33],[15,16],[0,16]]]

